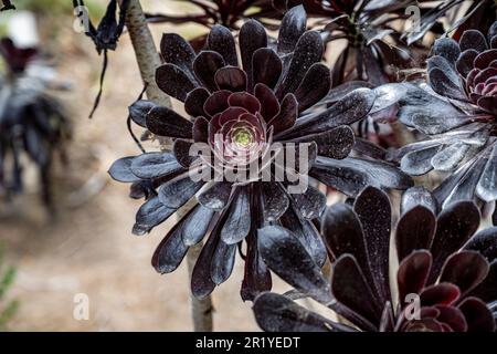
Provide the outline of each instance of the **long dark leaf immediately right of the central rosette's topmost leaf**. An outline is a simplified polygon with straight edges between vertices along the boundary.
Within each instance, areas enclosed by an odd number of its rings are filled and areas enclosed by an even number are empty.
[[[276,96],[283,98],[287,93],[294,93],[304,80],[307,70],[321,60],[324,44],[319,32],[307,31],[295,48],[286,76],[283,77],[276,90]]]

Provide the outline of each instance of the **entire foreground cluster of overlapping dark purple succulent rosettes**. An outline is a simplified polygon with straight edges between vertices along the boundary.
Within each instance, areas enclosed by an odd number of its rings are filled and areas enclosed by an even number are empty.
[[[156,82],[180,104],[129,107],[172,147],[109,169],[145,200],[134,233],[180,216],[156,270],[175,271],[205,239],[191,281],[204,298],[241,253],[242,299],[267,331],[495,331],[497,229],[483,226],[497,221],[497,22],[475,24],[495,3],[419,1],[420,31],[403,33],[393,22],[415,1],[190,2],[201,14],[149,17],[210,29],[193,44],[162,37]],[[451,22],[450,10],[463,14]],[[427,31],[438,37],[430,49]],[[325,50],[339,39],[348,44],[330,65]],[[426,67],[413,66],[429,51]],[[396,82],[392,65],[421,75]],[[387,150],[358,128],[394,121],[416,140]],[[432,170],[433,192],[413,187],[410,176]],[[326,209],[326,188],[345,202]],[[400,212],[394,190],[405,190]],[[271,272],[295,290],[268,292]]]

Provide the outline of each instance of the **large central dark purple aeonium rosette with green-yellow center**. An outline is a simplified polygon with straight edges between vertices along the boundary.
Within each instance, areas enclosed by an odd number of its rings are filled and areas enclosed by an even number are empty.
[[[212,29],[205,50],[198,54],[179,35],[165,34],[166,64],[157,70],[157,83],[184,103],[191,119],[138,101],[130,107],[134,122],[173,138],[172,152],[126,157],[110,168],[115,179],[134,183],[135,197],[148,198],[137,214],[135,233],[150,231],[197,197],[199,204],[166,236],[152,260],[159,272],[171,272],[190,246],[210,235],[193,271],[197,296],[209,294],[230,277],[244,240],[242,296],[253,299],[271,289],[256,243],[257,229],[266,223],[292,229],[315,262],[324,264],[326,250],[311,220],[320,216],[326,197],[313,186],[290,191],[307,175],[350,196],[368,184],[405,189],[412,183],[391,165],[348,157],[355,138],[347,125],[371,110],[372,91],[361,88],[329,108],[309,110],[328,93],[330,74],[320,63],[321,38],[306,31],[302,7],[285,15],[274,46],[254,20],[242,27],[239,42],[241,63],[235,39],[224,27]],[[279,150],[272,150],[276,145]],[[207,147],[211,155],[192,155],[197,146]],[[277,158],[282,150],[284,163]],[[288,156],[298,165],[288,165]],[[254,162],[260,168],[250,178],[231,180],[223,174],[215,178],[219,170],[253,171],[248,167]],[[192,178],[198,170],[207,170],[208,180]],[[282,170],[284,178],[274,178]]]

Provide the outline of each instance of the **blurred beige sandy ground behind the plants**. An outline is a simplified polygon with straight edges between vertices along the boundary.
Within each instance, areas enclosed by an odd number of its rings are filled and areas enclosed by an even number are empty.
[[[157,7],[160,1],[149,2]],[[170,223],[146,237],[133,236],[140,201],[127,197],[127,186],[105,177],[114,159],[138,154],[125,124],[127,105],[141,91],[129,38],[125,34],[118,51],[109,54],[102,105],[88,121],[101,59],[86,38],[70,30],[72,19],[65,21],[67,29],[57,39],[63,51],[56,58],[61,77],[74,85],[64,100],[75,136],[68,147],[70,166],[55,170],[59,214],[47,217],[34,190],[0,208],[0,242],[18,268],[10,296],[21,302],[10,330],[189,331],[186,264],[168,275],[150,266]],[[162,30],[154,29],[157,43]],[[105,186],[89,200],[78,199],[92,178]],[[74,207],[74,200],[82,205]],[[239,296],[242,274],[239,260],[231,279],[213,295],[218,331],[257,330],[251,304]],[[89,298],[88,321],[73,317],[78,293]]]

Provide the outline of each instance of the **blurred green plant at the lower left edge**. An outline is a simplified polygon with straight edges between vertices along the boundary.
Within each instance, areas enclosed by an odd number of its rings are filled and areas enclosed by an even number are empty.
[[[7,331],[10,320],[15,315],[19,301],[8,298],[8,291],[15,280],[15,268],[4,264],[4,250],[0,246],[0,332]]]

